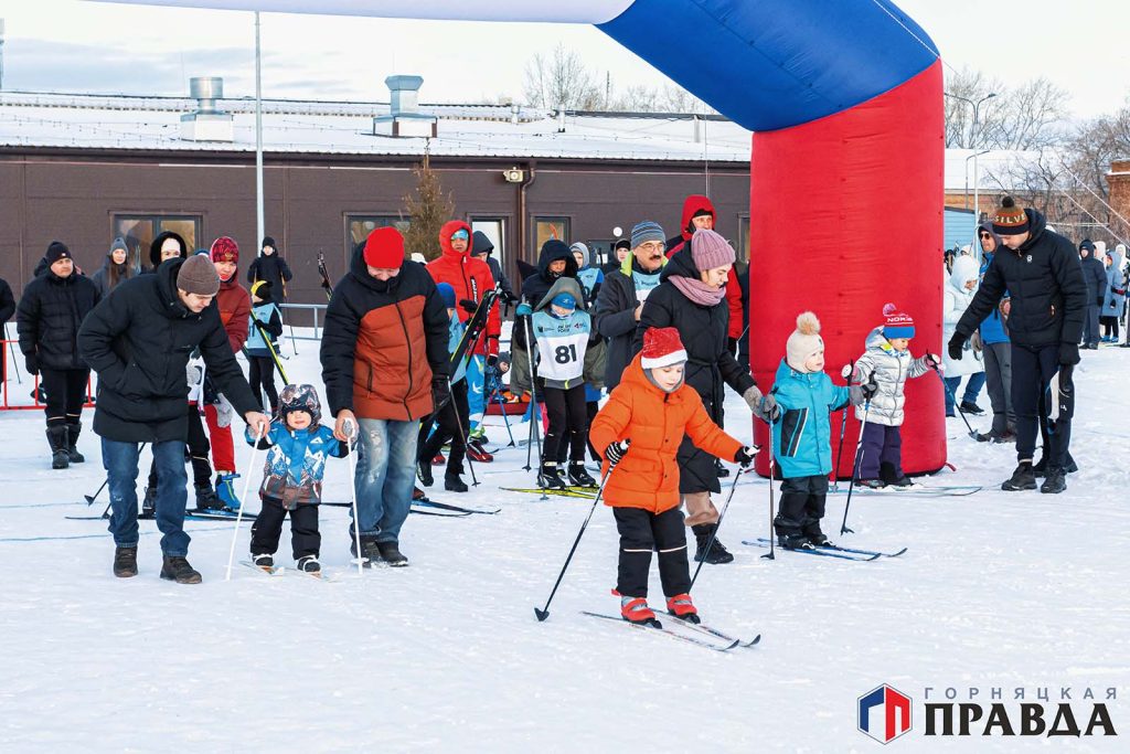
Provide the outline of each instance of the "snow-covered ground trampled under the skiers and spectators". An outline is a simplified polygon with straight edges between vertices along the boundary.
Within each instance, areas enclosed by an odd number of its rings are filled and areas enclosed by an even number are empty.
[[[293,380],[320,384],[314,344],[284,350]],[[104,523],[64,518],[105,504],[105,493],[89,509],[82,501],[103,479],[93,433],[80,441],[85,465],[53,471],[42,414],[0,411],[0,751],[878,751],[857,731],[855,709],[883,683],[913,699],[913,729],[896,751],[1127,751],[1128,359],[1085,352],[1072,449],[1081,470],[1066,494],[999,492],[1012,448],[974,443],[950,419],[959,473],[930,483],[983,492],[855,497],[857,534],[843,544],[909,546],[897,560],[763,560],[740,540],[766,536],[767,483],[744,477],[721,531],[737,560],[706,566],[695,586],[707,622],[763,635],[725,655],[580,615],[617,609],[616,528],[603,506],[551,616],[534,619],[589,503],[499,492],[532,485],[524,449],[477,465],[470,494],[433,487],[437,500],[502,512],[411,515],[408,569],[320,583],[236,567],[226,582],[232,525],[190,522],[205,583],[186,587],[157,578],[154,522],[141,522],[140,575],[120,580]],[[727,415],[748,414],[731,396]],[[505,445],[504,427],[489,433]],[[524,437],[524,425],[514,433]],[[237,452],[245,470],[249,449]],[[348,500],[345,461],[330,468],[325,499]],[[843,496],[829,499],[828,531],[842,513]],[[346,569],[346,511],[323,509],[322,534],[323,563]],[[247,540],[244,526],[240,556]],[[658,575],[652,598],[662,601]],[[1049,688],[1051,709],[1068,686],[1075,700],[1118,688],[1107,704],[1119,738],[1036,744],[985,738],[976,725],[967,738],[923,735],[924,703],[945,701],[946,688],[959,702],[979,688],[988,711],[993,687],[1009,704],[1017,687],[1027,701]]]

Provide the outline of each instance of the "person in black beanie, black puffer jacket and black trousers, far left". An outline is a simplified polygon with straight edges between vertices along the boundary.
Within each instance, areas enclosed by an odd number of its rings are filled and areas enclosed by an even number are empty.
[[[28,373],[42,372],[51,468],[64,469],[86,460],[76,443],[90,370],[79,357],[77,339],[82,320],[98,303],[98,289],[75,271],[67,244],[52,241],[46,260],[47,271],[24,288],[16,328]]]

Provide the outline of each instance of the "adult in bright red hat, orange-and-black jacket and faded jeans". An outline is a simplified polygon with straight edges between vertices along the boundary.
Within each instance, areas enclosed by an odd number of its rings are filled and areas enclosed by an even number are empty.
[[[423,265],[405,260],[403,236],[392,227],[370,233],[333,288],[321,348],[334,435],[349,440],[359,431],[354,485],[362,552],[354,554],[366,564],[408,565],[399,543],[419,423],[450,399],[447,329],[443,297]]]

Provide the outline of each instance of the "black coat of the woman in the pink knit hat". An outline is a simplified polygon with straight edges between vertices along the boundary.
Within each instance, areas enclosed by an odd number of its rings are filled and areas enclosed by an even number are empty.
[[[673,276],[698,279],[690,254],[675,254],[668,260],[659,287],[643,304],[633,350],[643,347],[643,333],[647,328],[677,329],[687,350],[686,383],[702,397],[711,421],[721,424],[724,385],[744,393],[754,387],[754,378],[748,370],[741,369],[727,347],[730,310],[725,298],[713,306],[699,306],[675,287],[670,280]],[[679,445],[678,461],[680,493],[721,492],[714,457],[696,448],[688,437]]]

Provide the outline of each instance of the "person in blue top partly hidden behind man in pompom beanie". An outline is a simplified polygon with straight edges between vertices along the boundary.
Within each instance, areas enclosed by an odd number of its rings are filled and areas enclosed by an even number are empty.
[[[981,277],[984,278],[993,255],[1000,248],[1000,236],[992,229],[992,223],[977,226],[977,240],[984,262]],[[1010,296],[1005,292],[999,305],[993,307],[981,322],[981,356],[984,359],[985,385],[992,406],[992,428],[977,433],[980,442],[1016,442],[1016,411],[1012,410],[1012,347],[1008,339],[1008,309]]]

